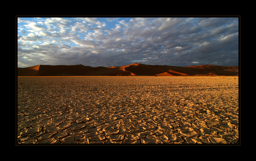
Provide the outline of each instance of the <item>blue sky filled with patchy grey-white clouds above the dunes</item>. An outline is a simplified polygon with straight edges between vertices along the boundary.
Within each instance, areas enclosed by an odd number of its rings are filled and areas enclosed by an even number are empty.
[[[239,65],[238,17],[18,17],[18,67]]]

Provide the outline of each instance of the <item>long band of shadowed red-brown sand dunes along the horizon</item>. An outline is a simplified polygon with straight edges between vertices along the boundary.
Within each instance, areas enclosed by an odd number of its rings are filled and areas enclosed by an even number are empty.
[[[238,76],[238,66],[168,66],[134,63],[125,66],[91,67],[84,65],[36,65],[17,68],[18,76]]]

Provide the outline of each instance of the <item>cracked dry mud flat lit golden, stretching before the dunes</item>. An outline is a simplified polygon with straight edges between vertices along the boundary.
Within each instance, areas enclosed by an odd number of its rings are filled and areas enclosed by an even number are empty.
[[[238,76],[18,77],[17,144],[239,144]]]

